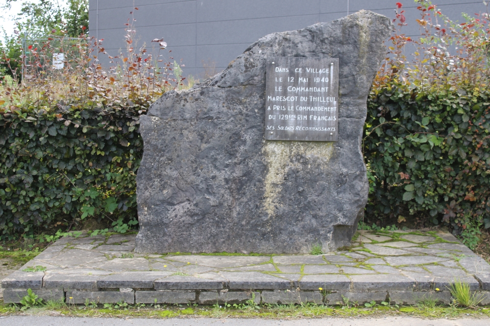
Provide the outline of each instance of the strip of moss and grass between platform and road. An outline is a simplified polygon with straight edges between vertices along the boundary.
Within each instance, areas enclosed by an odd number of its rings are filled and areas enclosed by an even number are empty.
[[[438,306],[427,308],[423,306],[380,306],[345,307],[315,304],[275,304],[262,305],[260,309],[253,306],[242,305],[241,308],[224,307],[219,305],[161,305],[154,308],[152,305],[128,305],[124,309],[114,309],[114,305],[99,305],[86,307],[84,305],[50,304],[36,306],[25,311],[0,301],[0,316],[9,315],[56,315],[69,317],[112,317],[112,318],[264,318],[264,319],[298,319],[321,317],[384,317],[384,316],[412,316],[430,319],[440,318],[488,318],[490,307],[478,309],[462,309],[454,306]]]

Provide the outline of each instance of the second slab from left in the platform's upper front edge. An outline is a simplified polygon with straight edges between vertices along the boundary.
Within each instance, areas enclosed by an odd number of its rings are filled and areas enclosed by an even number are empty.
[[[43,287],[56,289],[91,289],[97,290],[97,280],[105,276],[100,275],[78,275],[56,273],[46,276]]]

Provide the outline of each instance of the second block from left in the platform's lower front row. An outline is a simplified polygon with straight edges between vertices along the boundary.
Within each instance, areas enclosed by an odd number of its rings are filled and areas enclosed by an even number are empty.
[[[92,303],[134,303],[134,292],[120,291],[68,291],[66,301],[70,304]]]

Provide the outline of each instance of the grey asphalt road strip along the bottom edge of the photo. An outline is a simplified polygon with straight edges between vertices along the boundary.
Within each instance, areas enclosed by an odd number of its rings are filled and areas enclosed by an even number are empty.
[[[266,319],[118,319],[73,318],[51,316],[9,316],[0,318],[0,326],[490,326],[486,319],[420,319],[411,317],[387,318],[321,318],[291,321]]]

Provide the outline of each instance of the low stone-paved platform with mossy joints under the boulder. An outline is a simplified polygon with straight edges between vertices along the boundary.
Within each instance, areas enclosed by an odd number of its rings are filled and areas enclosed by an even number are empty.
[[[490,265],[449,233],[363,232],[323,255],[142,255],[135,234],[67,237],[2,280],[5,303],[27,289],[66,303],[451,303],[454,280],[490,304]],[[110,259],[109,259],[110,258]],[[45,271],[26,272],[43,266]]]

